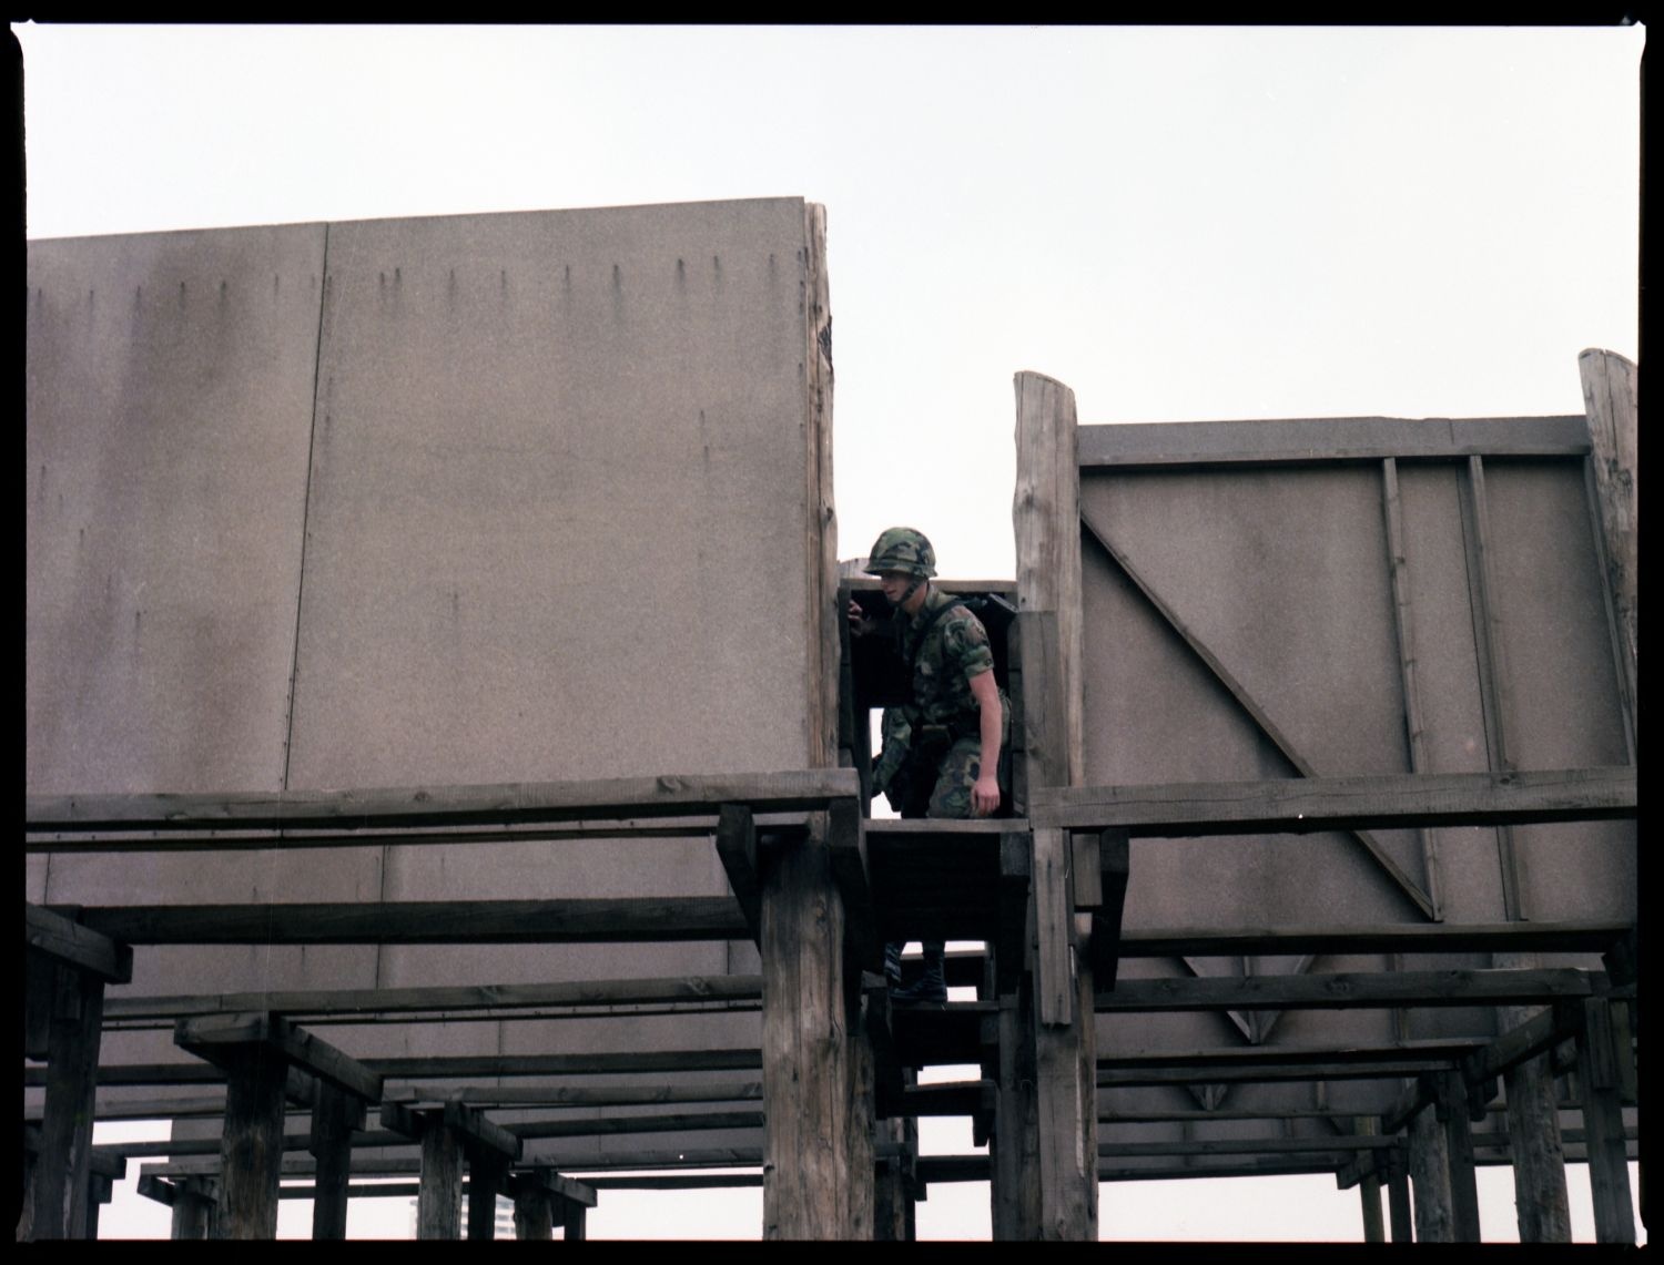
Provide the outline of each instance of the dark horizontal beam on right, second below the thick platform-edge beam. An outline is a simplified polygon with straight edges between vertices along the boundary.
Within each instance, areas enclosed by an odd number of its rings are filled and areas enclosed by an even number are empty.
[[[1499,1006],[1592,996],[1604,976],[1539,971],[1379,971],[1316,976],[1226,976],[1123,979],[1098,992],[1103,1012],[1161,1011],[1345,1011],[1388,1006]],[[1496,1069],[1499,1071],[1499,1069]],[[1491,1075],[1496,1072],[1493,1071]],[[1483,1079],[1483,1077],[1481,1077]]]

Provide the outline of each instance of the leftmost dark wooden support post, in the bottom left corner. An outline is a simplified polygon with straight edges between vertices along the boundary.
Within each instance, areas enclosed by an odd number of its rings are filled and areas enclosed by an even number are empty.
[[[30,1182],[28,1233],[33,1238],[85,1238],[105,981],[68,966],[55,966],[52,979],[47,1105]]]

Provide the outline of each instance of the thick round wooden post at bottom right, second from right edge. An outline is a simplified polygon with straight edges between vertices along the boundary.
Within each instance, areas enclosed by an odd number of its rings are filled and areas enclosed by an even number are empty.
[[[1533,952],[1491,954],[1491,966],[1533,969],[1541,959]],[[1541,1007],[1501,1006],[1504,1032],[1518,1031],[1541,1014]],[[1566,1197],[1566,1150],[1561,1142],[1554,1072],[1543,1052],[1503,1071],[1508,1100],[1508,1149],[1514,1160],[1514,1212],[1521,1243],[1569,1243],[1571,1207]]]

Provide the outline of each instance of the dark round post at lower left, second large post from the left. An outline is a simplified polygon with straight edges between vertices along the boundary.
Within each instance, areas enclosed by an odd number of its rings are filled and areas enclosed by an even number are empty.
[[[220,1137],[220,1238],[276,1238],[288,1064],[270,1047],[226,1049]]]

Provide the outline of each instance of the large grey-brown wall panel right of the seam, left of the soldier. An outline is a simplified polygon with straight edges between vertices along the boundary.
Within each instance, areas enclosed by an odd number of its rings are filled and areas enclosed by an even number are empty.
[[[797,199],[331,226],[291,785],[807,763],[804,249]]]

